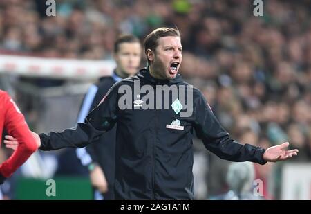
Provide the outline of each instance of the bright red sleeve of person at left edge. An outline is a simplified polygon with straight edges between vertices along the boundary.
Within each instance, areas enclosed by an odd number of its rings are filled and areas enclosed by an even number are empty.
[[[19,142],[17,150],[13,152],[11,157],[1,163],[0,173],[4,177],[10,177],[19,166],[21,166],[30,155],[37,150],[37,144],[35,139],[26,124],[23,114],[19,111],[19,108],[15,102],[6,96],[3,102],[6,113],[4,114],[4,127],[8,134],[14,136]]]

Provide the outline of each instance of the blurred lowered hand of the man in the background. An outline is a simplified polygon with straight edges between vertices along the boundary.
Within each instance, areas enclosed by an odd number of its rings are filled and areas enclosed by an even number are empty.
[[[102,168],[95,165],[90,172],[91,184],[94,188],[100,191],[100,193],[106,193],[108,191],[108,184]]]

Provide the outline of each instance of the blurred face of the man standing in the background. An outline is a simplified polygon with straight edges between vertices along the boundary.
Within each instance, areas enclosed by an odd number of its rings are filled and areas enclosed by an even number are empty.
[[[124,42],[119,44],[119,49],[114,58],[117,63],[117,71],[123,78],[135,75],[140,66],[142,47],[138,42]]]

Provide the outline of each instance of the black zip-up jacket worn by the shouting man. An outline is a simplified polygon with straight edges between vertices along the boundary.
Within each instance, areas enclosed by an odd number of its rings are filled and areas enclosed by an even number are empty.
[[[133,101],[139,98],[135,92],[140,93],[142,100],[148,91],[134,91],[134,80],[140,80],[140,89],[144,86],[144,89],[154,89],[157,85],[184,85],[183,94],[187,96],[188,84],[180,75],[174,80],[158,80],[147,69],[142,69],[135,77],[114,84],[100,105],[88,114],[85,123],[78,123],[74,129],[60,133],[40,134],[41,150],[83,147],[117,123],[115,199],[193,199],[194,130],[205,147],[221,159],[266,163],[263,148],[242,145],[230,139],[198,89],[193,89],[192,115],[181,117],[180,112],[176,114],[171,107],[174,101],[171,98],[169,109],[133,107]],[[120,109],[119,101],[124,102],[126,87],[134,91],[131,102],[126,102],[130,108]],[[156,99],[156,96],[155,90],[153,97]],[[178,92],[178,96],[182,94]],[[160,101],[163,105],[163,100],[155,100],[155,106]],[[180,125],[172,124],[173,121]],[[178,125],[182,129],[167,128],[167,125]]]

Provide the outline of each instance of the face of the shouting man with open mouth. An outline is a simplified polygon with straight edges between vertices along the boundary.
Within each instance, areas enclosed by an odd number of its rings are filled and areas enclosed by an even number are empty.
[[[160,37],[158,46],[151,58],[153,75],[159,79],[172,80],[176,78],[182,62],[182,45],[180,37]]]

